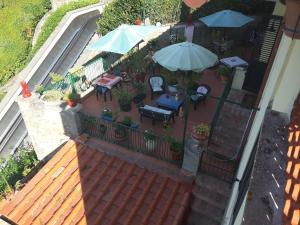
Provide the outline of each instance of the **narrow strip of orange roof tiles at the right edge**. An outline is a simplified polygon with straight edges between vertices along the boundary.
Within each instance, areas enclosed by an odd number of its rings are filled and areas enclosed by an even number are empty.
[[[287,151],[287,182],[285,186],[285,205],[283,223],[300,224],[300,94],[295,101],[289,126]]]

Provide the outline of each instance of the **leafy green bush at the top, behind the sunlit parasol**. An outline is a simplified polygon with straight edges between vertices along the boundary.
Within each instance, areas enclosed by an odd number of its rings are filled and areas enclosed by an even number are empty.
[[[98,20],[98,33],[105,35],[123,23],[149,17],[151,22],[169,23],[179,20],[181,0],[115,0],[107,5]]]

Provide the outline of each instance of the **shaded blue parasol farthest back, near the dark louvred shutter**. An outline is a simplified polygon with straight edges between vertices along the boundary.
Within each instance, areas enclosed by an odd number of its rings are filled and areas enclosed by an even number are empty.
[[[237,11],[222,10],[199,20],[208,27],[241,27],[251,22],[253,18]]]

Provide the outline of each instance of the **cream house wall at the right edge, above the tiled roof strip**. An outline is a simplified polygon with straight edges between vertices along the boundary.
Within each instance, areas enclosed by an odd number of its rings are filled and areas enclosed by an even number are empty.
[[[289,39],[286,48],[290,50],[287,58],[282,55],[282,60],[286,63],[282,67],[281,79],[273,95],[272,109],[289,117],[300,91],[300,40],[292,40],[287,36],[285,38]]]

